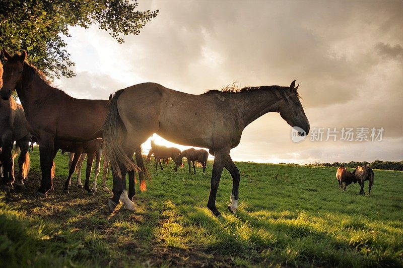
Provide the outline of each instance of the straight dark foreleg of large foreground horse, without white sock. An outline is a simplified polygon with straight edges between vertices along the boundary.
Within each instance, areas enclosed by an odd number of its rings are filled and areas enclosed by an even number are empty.
[[[217,189],[218,185],[220,184],[221,173],[223,172],[224,165],[227,163],[229,151],[223,153],[215,153],[216,156],[213,164],[213,174],[210,182],[210,195],[209,202],[207,203],[207,208],[213,213],[214,216],[218,217],[221,215],[221,213],[216,208]]]

